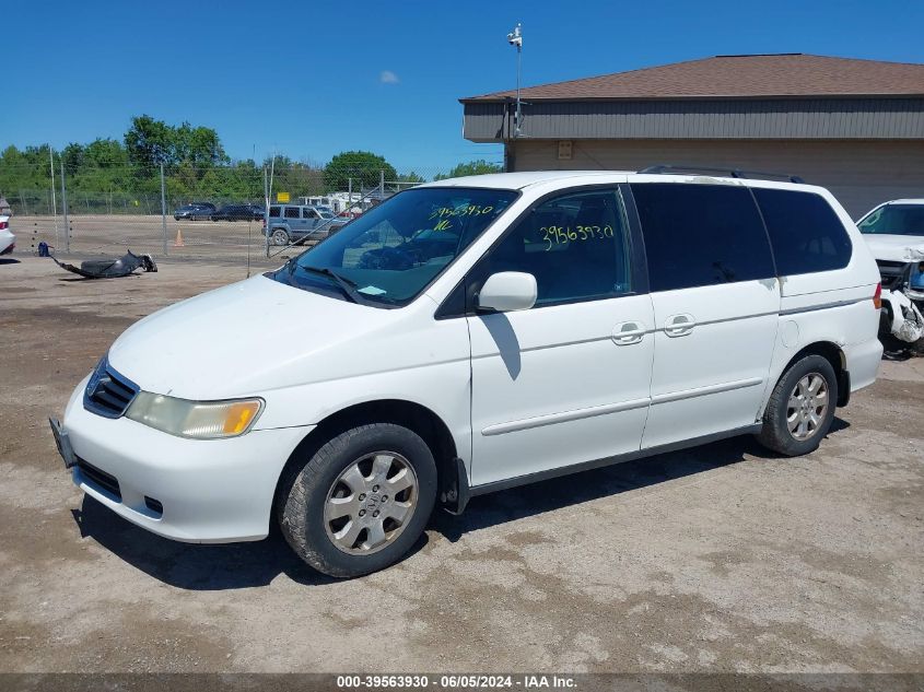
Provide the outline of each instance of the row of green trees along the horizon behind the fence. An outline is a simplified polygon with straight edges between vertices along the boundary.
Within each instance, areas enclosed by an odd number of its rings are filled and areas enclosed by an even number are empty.
[[[47,144],[8,146],[0,152],[0,195],[17,213],[50,211],[50,165],[55,176],[63,171],[69,206],[74,211],[104,213],[160,211],[161,166],[169,206],[189,201],[260,202],[264,169],[273,171],[273,190],[295,196],[336,190],[369,189],[388,183],[424,183],[424,176],[398,174],[384,156],[347,151],[324,166],[293,161],[284,155],[256,162],[232,161],[215,130],[182,122],[172,126],[148,115],[131,119],[121,141],[96,139],[71,143],[60,151]],[[501,167],[486,161],[463,163],[434,179],[493,173]],[[60,180],[57,180],[60,195]],[[58,204],[60,207],[60,200]]]

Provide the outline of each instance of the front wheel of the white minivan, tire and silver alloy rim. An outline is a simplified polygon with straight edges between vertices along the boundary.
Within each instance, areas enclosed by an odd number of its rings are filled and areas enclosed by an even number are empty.
[[[276,506],[282,535],[302,560],[329,576],[354,577],[401,560],[435,500],[436,464],[426,443],[400,425],[375,423],[290,465]]]

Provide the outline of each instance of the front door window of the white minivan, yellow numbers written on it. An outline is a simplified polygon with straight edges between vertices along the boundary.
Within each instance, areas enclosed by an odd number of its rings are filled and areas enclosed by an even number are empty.
[[[537,305],[587,301],[632,290],[629,231],[616,190],[543,202],[479,262],[484,280],[499,271],[536,277]]]

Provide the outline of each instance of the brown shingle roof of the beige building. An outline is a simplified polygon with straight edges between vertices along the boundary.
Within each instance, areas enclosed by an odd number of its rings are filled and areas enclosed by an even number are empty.
[[[500,101],[515,91],[471,101]],[[804,54],[716,56],[521,91],[524,99],[924,95],[924,64]]]

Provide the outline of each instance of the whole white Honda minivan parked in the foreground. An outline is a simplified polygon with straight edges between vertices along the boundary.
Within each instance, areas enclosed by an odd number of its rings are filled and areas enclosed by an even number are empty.
[[[876,377],[879,272],[827,190],[740,176],[400,192],[126,330],[51,421],[61,455],[154,533],[278,521],[343,577],[400,560],[434,504],[745,433],[809,453]]]

